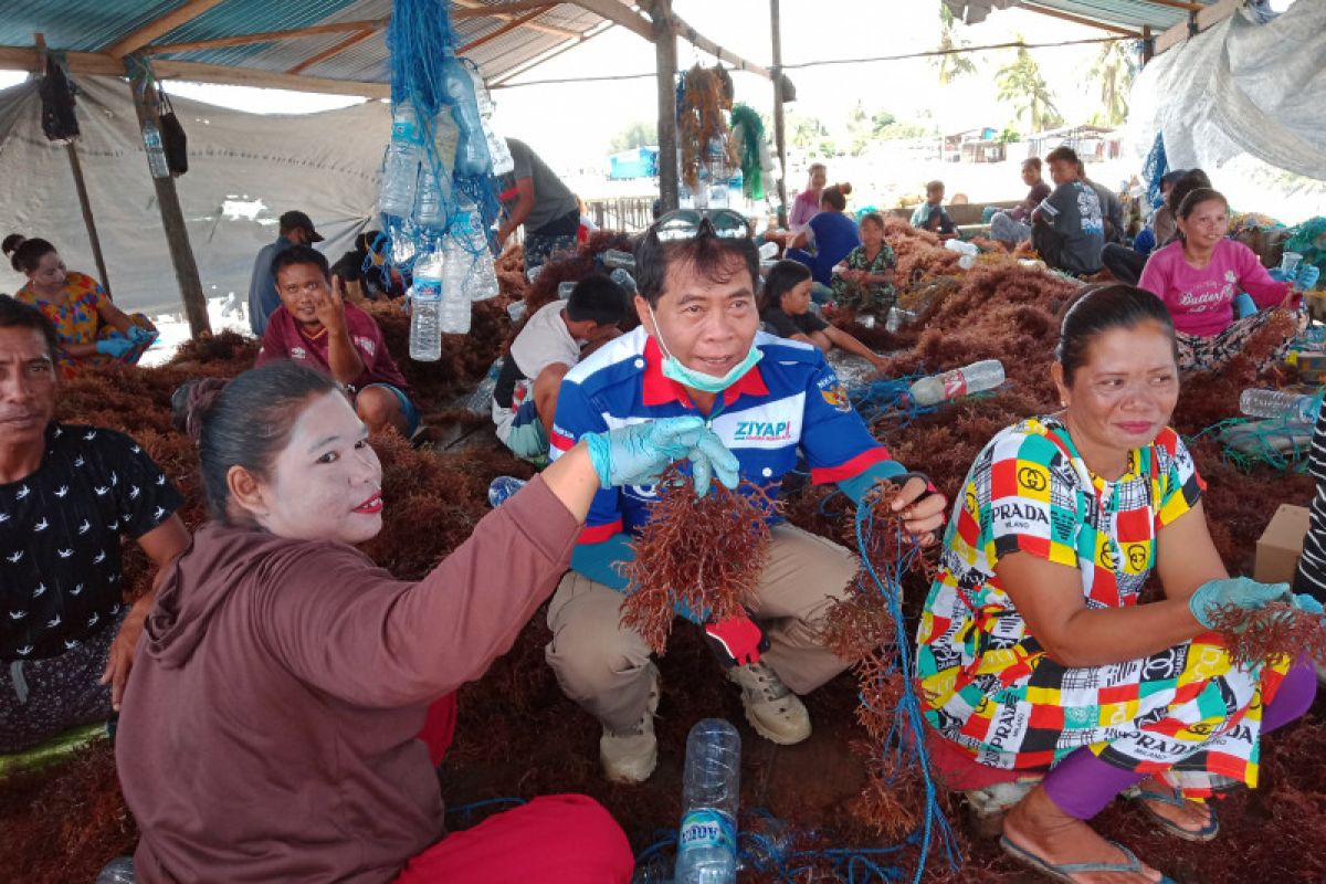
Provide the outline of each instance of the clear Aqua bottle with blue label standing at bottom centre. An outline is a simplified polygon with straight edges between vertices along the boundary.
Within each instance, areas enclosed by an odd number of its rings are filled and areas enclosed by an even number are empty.
[[[731,884],[737,877],[741,736],[703,718],[686,738],[676,884]]]

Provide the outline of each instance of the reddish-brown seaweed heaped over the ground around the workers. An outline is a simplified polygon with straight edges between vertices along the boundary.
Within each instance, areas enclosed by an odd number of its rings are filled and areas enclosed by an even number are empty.
[[[850,330],[896,354],[890,374],[939,371],[997,358],[1009,378],[991,395],[930,414],[871,415],[873,431],[895,456],[926,470],[952,496],[991,436],[1020,417],[1057,407],[1049,364],[1057,315],[1075,284],[1002,253],[984,256],[972,270],[959,272],[957,256],[932,236],[892,221],[888,239],[899,256],[900,276],[908,281],[903,304],[915,309],[919,319],[896,334],[857,325]],[[520,273],[518,254],[508,256],[499,265],[503,294],[476,305],[472,334],[448,337],[439,363],[404,359],[406,318],[392,305],[371,307],[428,423],[435,428],[459,425],[469,433],[465,444],[439,444],[436,449],[410,448],[395,437],[374,440],[383,459],[387,500],[385,530],[366,545],[377,562],[402,578],[422,575],[488,510],[485,489],[493,476],[529,474],[526,465],[491,440],[481,419],[456,411],[452,403],[508,346],[514,327],[505,307],[513,300],[528,297],[537,307],[556,297],[557,282],[587,272],[595,252],[625,244],[618,235],[601,233],[573,258],[546,268],[533,286]],[[73,378],[64,387],[60,417],[133,433],[179,485],[187,500],[182,514],[196,526],[203,518],[196,459],[190,441],[171,428],[170,395],[190,378],[237,374],[252,364],[255,347],[223,334],[188,345],[159,368]],[[1240,358],[1219,375],[1185,379],[1175,416],[1179,431],[1193,436],[1236,415],[1240,391],[1258,383],[1252,364],[1250,358]],[[1265,384],[1293,380],[1289,370],[1260,379]],[[448,436],[455,437],[455,432]],[[1211,436],[1199,437],[1192,447],[1209,484],[1205,505],[1217,549],[1231,571],[1248,574],[1256,539],[1276,506],[1306,504],[1313,481],[1265,465],[1240,469],[1221,457]],[[812,530],[838,539],[850,531],[850,505],[841,494],[800,488],[785,504],[789,517]],[[147,579],[141,554],[126,557],[126,584],[141,591]],[[924,590],[920,577],[908,578],[908,607],[915,608]],[[586,793],[614,812],[640,851],[676,826],[687,730],[700,717],[721,716],[739,724],[745,741],[743,807],[764,807],[782,823],[770,827],[748,812],[743,826],[777,835],[789,855],[806,851],[789,867],[800,872],[751,869],[744,881],[847,880],[843,857],[826,848],[880,847],[895,840],[880,836],[859,812],[869,762],[853,750],[866,732],[857,722],[858,685],[850,673],[806,698],[815,725],[812,738],[800,746],[777,747],[745,726],[737,693],[723,680],[697,631],[676,623],[660,660],[659,767],[647,783],[626,787],[606,783],[599,775],[598,726],[562,696],[544,661],[548,637],[541,611],[511,653],[480,681],[463,688],[456,742],[439,773],[448,806]],[[1216,804],[1221,834],[1213,844],[1166,839],[1122,802],[1102,815],[1101,830],[1180,881],[1326,880],[1326,856],[1319,851],[1326,842],[1326,725],[1319,712],[1321,706],[1307,721],[1266,740],[1262,787]],[[969,836],[961,826],[960,802],[945,802],[949,819],[957,823],[964,867],[949,875],[940,857],[932,856],[930,880],[1034,880],[1004,859],[993,842]],[[455,815],[448,822],[463,827],[469,820]],[[0,877],[33,884],[90,881],[106,860],[131,851],[135,838],[115,781],[113,753],[103,741],[49,767],[0,779],[0,856],[5,857]],[[876,861],[896,867],[910,880],[916,859],[912,848]],[[865,879],[858,875],[857,880]]]

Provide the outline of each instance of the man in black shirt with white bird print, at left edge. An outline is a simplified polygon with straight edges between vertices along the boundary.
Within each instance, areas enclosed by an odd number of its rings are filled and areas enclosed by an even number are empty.
[[[154,598],[125,604],[121,537],[158,579],[188,546],[183,498],[133,439],[54,419],[57,350],[0,296],[0,754],[119,709]]]

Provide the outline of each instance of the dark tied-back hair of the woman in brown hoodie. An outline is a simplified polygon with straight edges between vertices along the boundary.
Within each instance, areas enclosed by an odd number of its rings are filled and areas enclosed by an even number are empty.
[[[249,368],[228,383],[194,382],[188,392],[175,391],[171,404],[176,421],[183,407],[183,423],[198,440],[203,490],[213,520],[235,524],[227,481],[231,467],[243,467],[259,481],[268,481],[302,406],[339,390],[330,375],[281,359]]]

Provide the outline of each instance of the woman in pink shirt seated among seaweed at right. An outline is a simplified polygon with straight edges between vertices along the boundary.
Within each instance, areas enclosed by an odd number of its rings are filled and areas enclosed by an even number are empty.
[[[1233,300],[1240,292],[1250,294],[1258,307],[1289,306],[1293,292],[1289,282],[1270,278],[1252,249],[1225,236],[1229,203],[1219,191],[1200,187],[1188,193],[1177,224],[1180,237],[1151,254],[1138,288],[1170,307],[1179,368],[1211,371],[1240,353],[1273,315],[1264,309],[1235,319]],[[1282,358],[1288,345],[1286,339],[1264,362]]]

